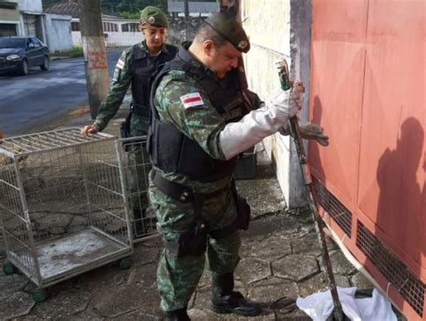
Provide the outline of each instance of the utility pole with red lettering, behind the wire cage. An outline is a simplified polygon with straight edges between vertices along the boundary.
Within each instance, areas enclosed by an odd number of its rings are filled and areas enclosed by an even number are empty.
[[[96,118],[108,94],[108,61],[102,32],[101,0],[78,0],[90,114]]]

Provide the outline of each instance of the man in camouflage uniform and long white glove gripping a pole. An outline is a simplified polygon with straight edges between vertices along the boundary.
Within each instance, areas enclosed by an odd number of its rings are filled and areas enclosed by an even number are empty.
[[[296,82],[255,111],[244,110],[244,103],[230,105],[241,92],[228,75],[249,49],[235,17],[214,13],[153,84],[148,196],[164,241],[157,283],[168,320],[190,319],[187,305],[206,259],[214,311],[241,316],[260,312],[234,290],[239,229],[248,227],[250,215],[235,191],[235,158],[297,113],[304,88]]]

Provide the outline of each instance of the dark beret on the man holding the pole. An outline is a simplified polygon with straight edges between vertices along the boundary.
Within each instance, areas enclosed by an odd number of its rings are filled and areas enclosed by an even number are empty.
[[[235,19],[234,14],[212,13],[206,22],[223,38],[231,42],[238,51],[247,52],[250,50],[250,41],[241,23]]]

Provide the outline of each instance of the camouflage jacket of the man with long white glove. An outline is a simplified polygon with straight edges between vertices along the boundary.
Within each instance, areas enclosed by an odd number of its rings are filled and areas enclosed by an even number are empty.
[[[206,68],[208,73],[212,70]],[[185,97],[200,97],[201,103],[185,103]],[[219,134],[226,122],[209,100],[209,95],[183,71],[172,71],[165,75],[155,91],[155,109],[164,123],[173,125],[188,138],[195,140],[212,158],[225,160],[219,142]],[[232,176],[212,183],[200,183],[183,174],[164,173],[155,168],[164,178],[181,183],[192,190],[209,193],[229,183]]]

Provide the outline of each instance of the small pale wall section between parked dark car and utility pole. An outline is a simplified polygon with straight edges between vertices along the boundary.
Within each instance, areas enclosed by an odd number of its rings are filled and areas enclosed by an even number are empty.
[[[49,14],[45,16],[46,38],[50,52],[73,48],[71,36],[71,16]]]

